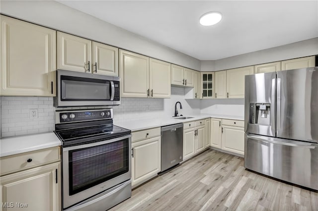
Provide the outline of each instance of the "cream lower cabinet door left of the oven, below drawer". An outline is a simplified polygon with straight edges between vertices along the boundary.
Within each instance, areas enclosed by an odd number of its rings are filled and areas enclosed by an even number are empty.
[[[59,175],[60,162],[56,162],[1,176],[1,202],[14,203],[13,208],[2,210],[60,211]],[[20,203],[18,207],[16,203]]]

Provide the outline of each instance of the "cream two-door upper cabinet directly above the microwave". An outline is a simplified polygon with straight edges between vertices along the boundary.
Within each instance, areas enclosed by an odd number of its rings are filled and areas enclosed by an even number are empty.
[[[58,32],[58,69],[118,76],[118,48]]]

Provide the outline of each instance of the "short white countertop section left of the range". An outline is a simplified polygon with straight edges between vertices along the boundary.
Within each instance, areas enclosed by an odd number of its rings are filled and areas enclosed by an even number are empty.
[[[1,138],[0,157],[61,145],[62,142],[53,132]]]

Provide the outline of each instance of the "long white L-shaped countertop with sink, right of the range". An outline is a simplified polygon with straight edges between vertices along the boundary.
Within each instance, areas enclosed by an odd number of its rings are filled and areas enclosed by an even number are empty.
[[[203,114],[199,114],[199,115],[186,115],[186,116],[191,116],[193,118],[174,119],[172,117],[163,117],[163,118],[156,118],[156,119],[154,119],[154,118],[153,119],[143,119],[143,120],[137,120],[137,121],[120,122],[120,123],[114,122],[114,124],[119,126],[119,127],[130,129],[132,132],[134,132],[134,131],[138,131],[138,130],[145,130],[145,129],[149,129],[149,128],[161,127],[161,126],[170,125],[170,124],[195,121],[195,120],[205,119],[205,118],[210,118],[210,117],[222,118],[222,119],[244,120],[243,116],[208,114],[208,113],[203,113]]]

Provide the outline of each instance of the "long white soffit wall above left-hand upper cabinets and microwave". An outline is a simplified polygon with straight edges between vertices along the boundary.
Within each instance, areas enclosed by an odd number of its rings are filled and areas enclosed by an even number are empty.
[[[200,70],[200,60],[56,1],[0,1],[0,12],[90,40]]]

